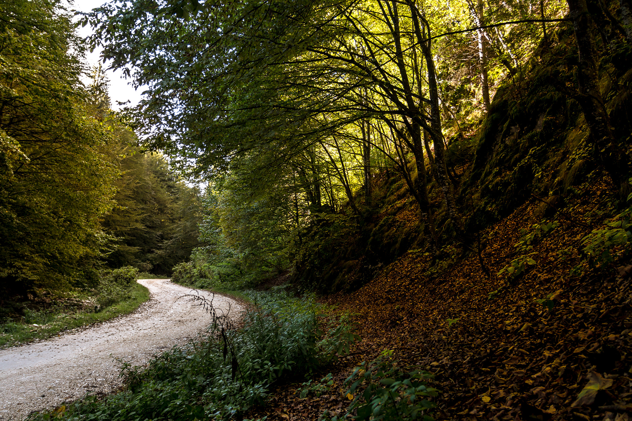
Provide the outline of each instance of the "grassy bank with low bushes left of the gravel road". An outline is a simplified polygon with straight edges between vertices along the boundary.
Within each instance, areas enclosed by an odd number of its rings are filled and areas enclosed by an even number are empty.
[[[13,302],[4,308],[0,348],[44,340],[88,324],[129,314],[149,300],[149,290],[137,283],[136,268],[104,273],[99,288],[82,292],[42,293],[39,299]]]

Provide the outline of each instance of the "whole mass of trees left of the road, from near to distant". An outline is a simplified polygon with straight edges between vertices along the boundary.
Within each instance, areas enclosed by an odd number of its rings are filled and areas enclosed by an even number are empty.
[[[197,194],[164,159],[130,148],[135,135],[109,110],[102,69],[83,85],[85,45],[61,2],[2,8],[3,294],[95,288],[104,260],[167,272],[197,243],[196,214],[186,204]]]

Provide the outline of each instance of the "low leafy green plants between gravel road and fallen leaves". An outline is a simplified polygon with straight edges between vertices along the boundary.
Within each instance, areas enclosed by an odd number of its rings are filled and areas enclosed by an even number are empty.
[[[232,419],[264,403],[272,384],[312,374],[349,340],[341,331],[325,343],[319,340],[319,307],[309,297],[297,299],[281,290],[250,297],[258,307],[248,310],[243,328],[234,328],[207,302],[214,317],[206,340],[174,348],[147,369],[124,366],[127,391],[106,401],[88,397],[63,417],[128,420],[160,413],[173,419]]]

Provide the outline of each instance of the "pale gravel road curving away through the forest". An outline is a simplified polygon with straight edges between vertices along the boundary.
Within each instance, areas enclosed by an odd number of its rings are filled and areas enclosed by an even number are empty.
[[[138,282],[149,288],[151,298],[132,314],[0,351],[0,420],[20,420],[88,392],[109,393],[120,384],[114,357],[143,364],[155,353],[186,343],[209,324],[201,307],[178,300],[189,288],[162,279]],[[215,296],[217,308],[228,309],[229,304],[237,316],[240,305]]]

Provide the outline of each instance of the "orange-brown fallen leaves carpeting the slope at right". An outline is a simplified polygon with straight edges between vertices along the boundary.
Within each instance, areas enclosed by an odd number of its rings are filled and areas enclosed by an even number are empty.
[[[322,373],[331,372],[334,382],[321,396],[301,398],[301,384],[286,384],[252,415],[313,420],[344,413],[351,369],[386,356],[434,374],[437,419],[627,420],[632,266],[624,260],[616,273],[586,267],[569,276],[581,239],[603,223],[602,198],[612,193],[603,178],[581,188],[574,210],[556,215],[559,225],[533,243],[536,263],[509,283],[496,273],[514,258],[521,230],[539,222],[535,198],[482,233],[491,278],[476,253],[428,278],[430,259],[412,251],[359,290],[324,297],[353,314],[362,341]]]

